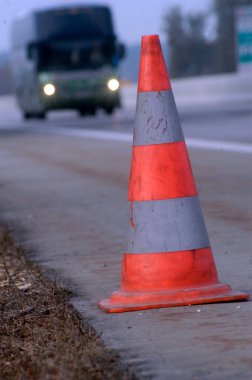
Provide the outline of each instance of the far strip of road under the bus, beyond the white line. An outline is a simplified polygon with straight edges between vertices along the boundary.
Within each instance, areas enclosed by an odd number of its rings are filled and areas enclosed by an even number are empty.
[[[79,130],[105,130],[132,133],[134,109],[123,109],[113,117],[99,112],[96,117],[80,118],[75,111],[52,112],[46,120],[23,121],[13,100],[0,100],[1,133],[16,131],[20,133],[59,133],[56,127],[77,128]],[[181,123],[186,138],[210,139],[228,142],[252,143],[252,107],[235,109],[232,106],[224,110],[215,107],[179,107]]]

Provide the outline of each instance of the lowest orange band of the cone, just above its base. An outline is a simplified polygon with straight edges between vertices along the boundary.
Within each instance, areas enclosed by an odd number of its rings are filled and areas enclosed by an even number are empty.
[[[138,291],[197,288],[218,282],[211,248],[124,254],[122,289]]]

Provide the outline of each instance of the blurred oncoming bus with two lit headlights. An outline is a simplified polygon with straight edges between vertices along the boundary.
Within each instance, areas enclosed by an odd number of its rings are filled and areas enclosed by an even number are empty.
[[[124,45],[107,6],[33,11],[11,28],[13,87],[25,119],[75,109],[81,116],[120,107]]]

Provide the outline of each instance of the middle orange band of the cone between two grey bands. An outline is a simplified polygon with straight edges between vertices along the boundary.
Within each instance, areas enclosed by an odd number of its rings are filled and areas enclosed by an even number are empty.
[[[183,141],[133,147],[129,201],[182,198],[196,194]]]

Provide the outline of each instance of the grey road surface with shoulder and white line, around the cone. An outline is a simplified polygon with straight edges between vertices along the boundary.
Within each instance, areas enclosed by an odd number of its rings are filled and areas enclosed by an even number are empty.
[[[8,107],[0,219],[47,273],[70,284],[74,305],[104,341],[141,379],[251,379],[250,301],[116,315],[96,306],[120,287],[132,110],[25,123]],[[251,118],[248,110],[181,110],[219,277],[250,294]]]

